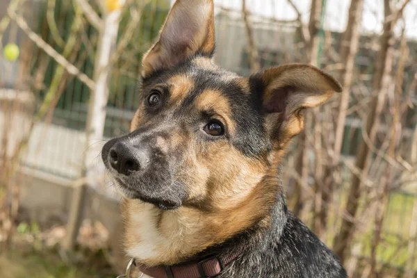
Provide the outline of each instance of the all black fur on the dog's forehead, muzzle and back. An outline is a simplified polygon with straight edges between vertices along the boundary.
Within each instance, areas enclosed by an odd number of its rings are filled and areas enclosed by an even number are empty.
[[[218,68],[202,69],[193,65],[190,60],[170,70],[154,72],[142,80],[140,88],[140,101],[144,101],[154,85],[164,83],[170,76],[179,73],[192,76],[195,89],[186,97],[181,107],[170,108],[169,111],[165,111],[163,105],[158,108],[146,108],[146,113],[149,115],[147,124],[122,138],[109,141],[102,152],[106,163],[109,149],[117,141],[130,140],[133,145],[141,147],[145,145],[151,148],[149,152],[152,153],[151,159],[154,165],[145,174],[139,172],[126,177],[124,186],[135,192],[131,197],[151,202],[161,209],[177,208],[187,199],[187,192],[184,189],[186,186],[172,178],[175,177],[175,165],[182,159],[181,149],[165,157],[159,154],[157,149],[152,149],[152,144],[149,142],[152,142],[155,136],[163,136],[164,132],[169,133],[171,126],[181,126],[184,132],[193,132],[198,122],[204,120],[208,117],[206,114],[210,113],[204,111],[201,115],[188,115],[188,106],[193,104],[203,90],[220,90],[229,100],[232,117],[238,126],[237,133],[232,138],[227,138],[230,144],[245,156],[258,159],[265,159],[265,154],[271,150],[270,140],[264,130],[261,99],[264,85],[260,79],[256,77],[250,79],[251,93],[247,94],[242,92],[235,81],[222,79],[224,74],[231,73]],[[164,90],[166,92],[163,101],[170,97],[169,88]],[[207,139],[199,138],[199,140]],[[277,200],[270,208],[270,227],[265,228],[259,223],[255,224],[247,231],[233,236],[226,243],[208,248],[194,259],[202,259],[211,254],[243,252],[235,261],[227,265],[218,278],[347,277],[336,255],[300,220],[288,213],[279,177],[272,177],[272,182],[277,183],[278,189]],[[136,188],[131,188],[133,183]],[[169,190],[165,190],[166,188]]]

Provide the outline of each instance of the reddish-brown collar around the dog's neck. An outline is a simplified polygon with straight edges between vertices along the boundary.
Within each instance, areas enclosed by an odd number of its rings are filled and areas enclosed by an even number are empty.
[[[138,270],[154,278],[208,278],[219,275],[224,267],[234,261],[242,252],[235,252],[225,256],[209,256],[195,263],[181,263],[179,265],[158,265],[147,267],[136,263]]]

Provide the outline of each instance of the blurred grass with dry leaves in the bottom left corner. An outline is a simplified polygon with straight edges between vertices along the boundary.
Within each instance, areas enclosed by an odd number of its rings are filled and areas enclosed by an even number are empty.
[[[93,225],[90,229],[92,234],[81,240],[74,251],[64,252],[59,243],[65,236],[65,228],[42,230],[37,222],[20,222],[12,244],[0,253],[0,278],[116,277],[107,260],[106,245],[101,244],[104,239],[97,238],[97,227]],[[83,245],[85,240],[96,242],[97,246]]]

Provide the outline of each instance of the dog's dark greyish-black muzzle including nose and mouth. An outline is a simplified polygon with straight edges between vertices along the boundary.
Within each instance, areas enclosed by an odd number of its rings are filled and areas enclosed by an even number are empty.
[[[123,195],[172,210],[181,206],[187,188],[176,177],[177,157],[155,144],[158,133],[133,131],[106,142],[101,158]]]

